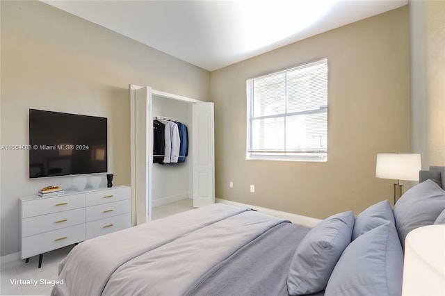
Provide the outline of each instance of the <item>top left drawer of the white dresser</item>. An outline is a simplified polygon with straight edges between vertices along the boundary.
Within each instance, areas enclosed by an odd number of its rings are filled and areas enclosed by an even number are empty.
[[[85,193],[59,195],[58,197],[42,197],[23,201],[22,219],[73,210],[74,208],[85,208]]]

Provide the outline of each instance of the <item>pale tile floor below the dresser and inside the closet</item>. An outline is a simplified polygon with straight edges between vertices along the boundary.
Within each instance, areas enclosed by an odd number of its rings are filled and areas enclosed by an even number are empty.
[[[152,209],[153,219],[159,219],[187,211],[193,208],[193,199],[182,199],[172,204],[165,204]],[[44,254],[42,268],[38,268],[38,256],[29,259],[29,263],[24,260],[17,260],[1,264],[0,267],[0,295],[50,295],[52,286],[51,281],[57,279],[58,264],[67,256],[74,247],[68,246],[56,249]],[[17,280],[34,280],[33,284],[13,283]]]

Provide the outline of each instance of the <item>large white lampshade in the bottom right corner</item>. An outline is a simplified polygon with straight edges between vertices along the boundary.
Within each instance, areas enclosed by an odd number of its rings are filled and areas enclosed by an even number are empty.
[[[405,239],[403,296],[445,295],[445,225],[414,229]]]

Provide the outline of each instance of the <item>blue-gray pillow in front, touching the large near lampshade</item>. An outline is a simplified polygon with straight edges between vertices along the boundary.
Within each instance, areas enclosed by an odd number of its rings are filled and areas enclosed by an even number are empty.
[[[402,295],[403,250],[386,222],[348,245],[327,282],[325,296]]]

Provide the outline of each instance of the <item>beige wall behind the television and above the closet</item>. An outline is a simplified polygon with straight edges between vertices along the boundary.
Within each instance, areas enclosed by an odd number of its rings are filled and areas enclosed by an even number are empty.
[[[28,144],[28,110],[108,117],[108,171],[130,183],[129,84],[203,101],[209,72],[39,1],[1,1],[1,145]],[[28,179],[27,151],[1,151],[1,256],[19,252],[19,197],[69,178]]]

